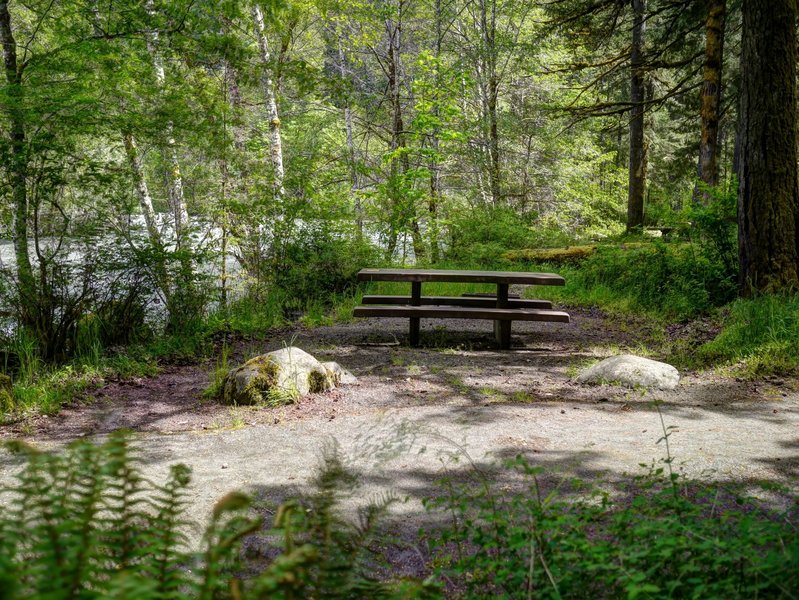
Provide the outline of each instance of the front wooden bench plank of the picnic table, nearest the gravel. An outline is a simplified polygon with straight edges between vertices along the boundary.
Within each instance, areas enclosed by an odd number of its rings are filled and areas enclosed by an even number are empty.
[[[463,306],[356,306],[355,317],[405,317],[412,319],[487,319],[492,321],[553,321],[568,323],[569,314],[558,310],[521,308],[468,308]]]

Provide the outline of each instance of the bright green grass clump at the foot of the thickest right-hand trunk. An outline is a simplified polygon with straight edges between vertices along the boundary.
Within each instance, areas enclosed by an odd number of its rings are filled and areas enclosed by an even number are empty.
[[[736,300],[722,326],[716,339],[699,348],[700,360],[740,362],[750,376],[799,369],[799,296]]]

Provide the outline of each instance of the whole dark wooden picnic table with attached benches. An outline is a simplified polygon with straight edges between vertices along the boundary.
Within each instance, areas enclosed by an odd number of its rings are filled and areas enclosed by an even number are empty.
[[[453,271],[442,269],[362,269],[358,281],[405,281],[411,284],[409,296],[371,295],[353,312],[356,317],[407,317],[411,346],[419,345],[422,318],[487,319],[494,321],[494,334],[500,348],[510,348],[513,321],[569,322],[565,312],[552,310],[548,300],[522,299],[510,294],[511,284],[565,285],[555,273],[523,271]],[[423,296],[422,283],[493,283],[495,294],[467,293],[462,296]]]

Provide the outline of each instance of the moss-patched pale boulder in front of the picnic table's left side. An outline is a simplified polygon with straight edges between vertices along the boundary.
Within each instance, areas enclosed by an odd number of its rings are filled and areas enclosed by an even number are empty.
[[[222,400],[225,404],[289,404],[354,379],[337,363],[320,363],[304,350],[290,346],[232,369],[222,386]]]

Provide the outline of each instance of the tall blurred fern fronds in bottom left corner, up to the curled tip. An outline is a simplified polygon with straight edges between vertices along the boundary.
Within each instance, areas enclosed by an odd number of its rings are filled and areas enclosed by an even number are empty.
[[[236,543],[258,526],[228,496],[214,508],[201,555],[186,547],[188,468],[165,483],[142,477],[124,434],[46,454],[9,448],[26,463],[4,491],[0,577],[4,598],[211,598],[228,591]]]

